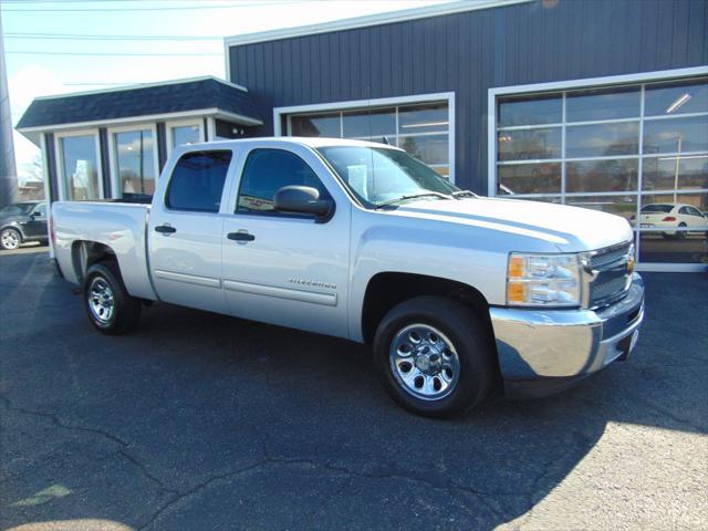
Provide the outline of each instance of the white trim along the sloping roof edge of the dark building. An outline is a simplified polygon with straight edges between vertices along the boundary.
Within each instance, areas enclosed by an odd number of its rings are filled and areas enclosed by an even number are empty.
[[[293,37],[314,35],[317,33],[329,33],[332,31],[352,30],[371,25],[391,24],[407,20],[428,19],[445,14],[461,13],[466,11],[477,11],[480,9],[500,8],[514,6],[517,3],[531,3],[534,0],[462,0],[457,2],[439,3],[423,8],[404,9],[388,11],[385,13],[368,14],[352,19],[334,20],[319,24],[301,25],[295,28],[283,28],[278,30],[261,31],[258,33],[246,33],[225,38],[225,46],[252,44],[257,42],[274,41],[278,39],[290,39]],[[226,54],[228,58],[228,53]],[[227,59],[227,79],[229,77],[230,64]]]

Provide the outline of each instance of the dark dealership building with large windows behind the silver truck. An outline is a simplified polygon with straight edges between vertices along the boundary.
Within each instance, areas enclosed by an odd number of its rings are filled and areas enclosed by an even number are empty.
[[[150,195],[174,146],[373,139],[481,195],[601,209],[708,268],[708,2],[479,0],[225,40],[226,80],[37,98],[52,200]],[[658,220],[658,221],[657,221]]]

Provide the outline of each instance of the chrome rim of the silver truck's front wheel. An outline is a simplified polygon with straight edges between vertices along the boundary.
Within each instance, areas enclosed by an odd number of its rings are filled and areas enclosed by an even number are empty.
[[[448,396],[459,381],[460,361],[452,342],[429,324],[410,324],[391,342],[391,368],[398,384],[424,400]]]

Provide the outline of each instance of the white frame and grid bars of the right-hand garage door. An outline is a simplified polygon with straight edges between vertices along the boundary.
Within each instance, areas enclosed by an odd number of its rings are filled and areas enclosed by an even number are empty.
[[[487,122],[487,168],[488,168],[488,181],[487,181],[487,195],[489,197],[497,197],[497,183],[498,183],[498,174],[497,168],[499,162],[497,160],[497,134],[500,131],[500,127],[497,125],[497,110],[498,103],[501,97],[511,96],[511,95],[538,95],[543,96],[551,93],[563,93],[563,110],[562,110],[562,122],[553,123],[553,124],[542,124],[542,125],[520,125],[520,126],[508,126],[501,128],[501,131],[513,131],[513,129],[534,129],[534,128],[548,128],[548,127],[560,127],[562,129],[562,147],[561,147],[561,157],[553,159],[539,159],[539,160],[525,160],[525,164],[531,163],[569,163],[576,160],[606,160],[606,159],[636,159],[638,164],[637,169],[637,186],[635,190],[629,191],[600,191],[600,192],[568,192],[565,190],[566,186],[566,175],[565,175],[565,164],[562,164],[562,175],[561,175],[561,190],[560,192],[552,194],[523,194],[519,195],[519,199],[534,199],[534,198],[559,198],[561,202],[566,202],[568,198],[573,198],[574,196],[607,196],[607,197],[620,197],[620,196],[635,196],[636,201],[636,219],[641,214],[641,208],[645,205],[642,202],[642,196],[647,195],[679,195],[679,194],[708,194],[708,188],[676,188],[670,190],[644,190],[643,189],[643,177],[644,177],[644,168],[643,164],[645,159],[656,158],[656,157],[667,157],[667,156],[686,156],[686,155],[702,155],[704,152],[685,152],[685,153],[660,153],[660,154],[645,154],[644,153],[644,124],[645,122],[655,122],[660,119],[675,119],[675,118],[686,118],[691,116],[705,116],[708,119],[708,111],[700,113],[676,113],[671,115],[658,115],[658,116],[646,116],[644,113],[645,106],[645,97],[646,97],[646,86],[652,83],[657,82],[671,82],[671,81],[683,81],[690,80],[691,77],[702,77],[708,75],[708,66],[696,66],[688,69],[676,69],[676,70],[667,70],[667,71],[657,71],[657,72],[646,72],[638,74],[627,74],[627,75],[612,75],[604,77],[591,77],[584,80],[572,80],[572,81],[562,81],[562,82],[551,82],[551,83],[538,83],[538,84],[528,84],[528,85],[512,85],[512,86],[500,86],[492,87],[488,90],[488,102],[487,102],[487,111],[488,111],[488,122]],[[639,85],[641,86],[641,108],[639,114],[636,117],[631,118],[612,118],[612,119],[596,119],[596,121],[584,121],[584,122],[568,122],[566,121],[566,94],[571,91],[576,90],[592,90],[592,88],[612,88],[612,87],[621,87],[623,85]],[[569,125],[591,125],[591,124],[604,124],[604,123],[624,123],[624,122],[638,122],[639,132],[638,132],[638,152],[633,155],[618,155],[618,156],[598,156],[598,157],[574,157],[566,158],[565,157],[565,127]],[[512,163],[513,164],[513,163]],[[522,163],[523,164],[523,163]],[[500,196],[502,197],[502,196]],[[516,198],[516,196],[503,195],[504,198]],[[639,247],[641,247],[641,233],[642,232],[653,232],[652,229],[646,229],[642,227],[633,227],[634,233],[636,235],[636,246],[637,252],[636,256],[639,257]],[[644,271],[702,271],[705,266],[700,263],[680,263],[680,262],[671,262],[671,263],[662,263],[662,262],[639,262],[639,269]]]

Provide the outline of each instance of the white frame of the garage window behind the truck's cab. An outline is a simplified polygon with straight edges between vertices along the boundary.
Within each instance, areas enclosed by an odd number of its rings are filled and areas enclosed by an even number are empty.
[[[409,105],[415,103],[435,103],[447,102],[448,113],[448,166],[450,183],[455,183],[455,92],[438,92],[433,94],[416,94],[412,96],[394,96],[394,97],[379,97],[375,100],[350,100],[346,102],[330,102],[330,103],[313,103],[309,105],[290,105],[287,107],[273,107],[273,136],[289,136],[290,135],[290,116],[293,114],[302,113],[320,113],[327,111],[348,111],[354,108],[367,108],[367,107],[386,107],[386,106],[399,106]],[[282,116],[288,118],[288,131],[283,135],[281,127]],[[397,116],[397,113],[396,113]],[[396,118],[397,119],[397,118]],[[341,122],[340,122],[341,123]],[[396,135],[393,136],[420,136],[420,134],[398,134],[398,124],[396,124]],[[435,133],[444,134],[444,133]]]

